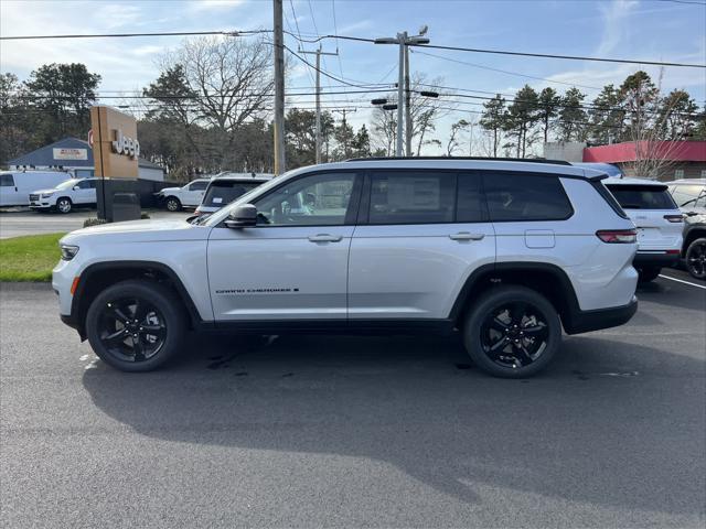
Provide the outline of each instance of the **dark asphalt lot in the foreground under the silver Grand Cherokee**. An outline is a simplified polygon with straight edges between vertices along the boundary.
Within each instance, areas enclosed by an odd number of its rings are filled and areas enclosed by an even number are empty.
[[[431,336],[192,336],[127,375],[2,284],[0,525],[703,528],[706,289],[638,295],[528,380]]]

